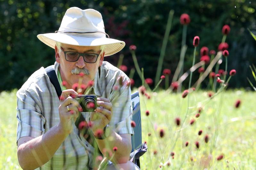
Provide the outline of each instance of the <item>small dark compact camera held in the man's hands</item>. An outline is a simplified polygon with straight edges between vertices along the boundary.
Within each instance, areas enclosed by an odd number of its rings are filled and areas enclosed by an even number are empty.
[[[94,112],[97,107],[97,96],[96,95],[77,95],[76,100],[83,108],[82,112]]]

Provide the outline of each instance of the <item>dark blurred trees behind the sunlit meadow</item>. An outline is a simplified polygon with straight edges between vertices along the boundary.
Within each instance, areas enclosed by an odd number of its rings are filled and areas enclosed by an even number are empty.
[[[54,64],[54,49],[39,41],[37,34],[58,30],[65,11],[72,6],[101,12],[110,38],[126,42],[121,52],[105,57],[106,61],[117,65],[119,56],[124,55],[123,64],[128,67],[129,75],[134,68],[129,46],[134,44],[145,78],[153,80],[170,10],[174,10],[174,18],[162,69],[168,68],[172,74],[180,56],[181,14],[187,13],[191,19],[187,28],[185,71],[192,65],[194,36],[200,37],[198,62],[202,46],[217,51],[223,36],[222,26],[227,24],[231,28],[226,39],[228,71],[237,71],[229,87],[251,89],[247,77],[253,79],[249,65],[256,64],[256,41],[247,28],[252,32],[256,29],[255,0],[0,0],[0,6],[0,92],[20,88],[35,70]],[[225,69],[225,62],[220,69]],[[195,71],[192,84],[198,76]],[[171,79],[172,76],[170,82]],[[136,87],[141,85],[137,73],[134,80]],[[205,81],[202,88],[208,83]],[[188,80],[183,83],[185,87],[187,84]]]

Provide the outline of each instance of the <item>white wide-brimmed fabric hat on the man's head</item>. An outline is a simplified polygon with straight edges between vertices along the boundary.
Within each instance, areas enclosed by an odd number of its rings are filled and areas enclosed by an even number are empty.
[[[105,33],[100,12],[77,7],[66,11],[58,31],[38,34],[37,38],[51,48],[55,48],[56,42],[77,46],[105,45],[105,56],[115,54],[125,46],[124,41],[111,39]]]

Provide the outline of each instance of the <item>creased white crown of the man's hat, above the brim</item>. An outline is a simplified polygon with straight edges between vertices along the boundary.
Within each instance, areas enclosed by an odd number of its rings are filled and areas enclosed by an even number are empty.
[[[94,9],[69,8],[61,22],[60,32],[105,32],[102,15]],[[103,35],[105,36],[105,35]]]

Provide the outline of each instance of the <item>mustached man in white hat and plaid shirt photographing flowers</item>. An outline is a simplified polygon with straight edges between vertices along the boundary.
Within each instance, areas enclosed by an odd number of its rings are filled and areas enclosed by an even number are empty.
[[[92,87],[88,91],[80,88],[79,93],[97,95],[97,108],[81,114],[90,123],[88,129],[100,152],[107,151],[107,158],[115,164],[107,168],[138,169],[128,161],[134,132],[130,125],[131,90],[123,84],[129,78],[103,62],[104,56],[119,52],[125,43],[106,35],[98,11],[77,7],[66,11],[58,31],[37,35],[55,49],[54,68],[62,94],[57,95],[44,68],[33,73],[17,92],[17,153],[23,169],[95,168],[95,148],[79,136],[74,125],[81,106],[73,98],[78,92],[72,89],[78,82],[88,85],[92,80]],[[112,127],[108,134],[107,127]],[[104,138],[99,138],[99,130]],[[113,148],[117,150],[113,152]]]

